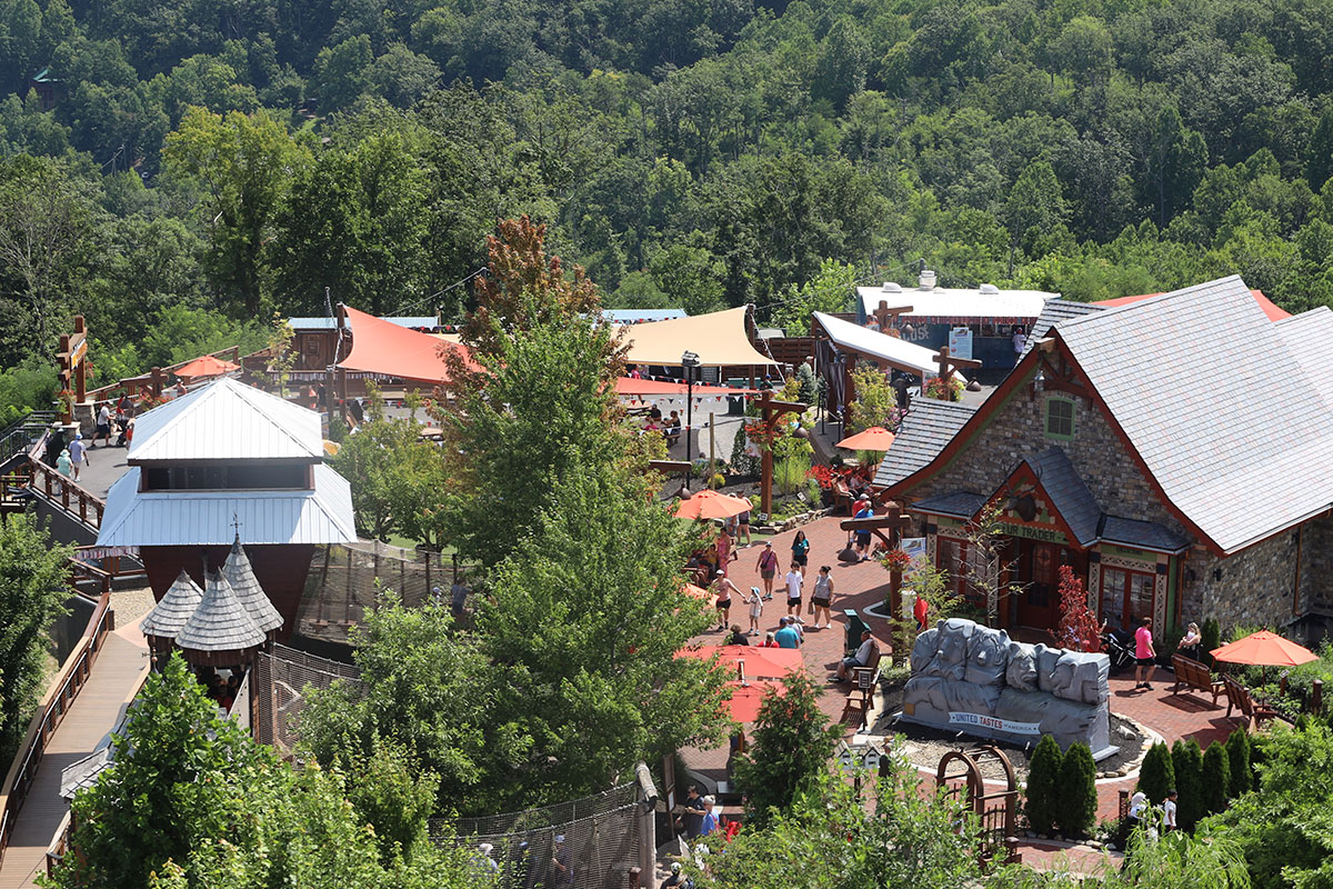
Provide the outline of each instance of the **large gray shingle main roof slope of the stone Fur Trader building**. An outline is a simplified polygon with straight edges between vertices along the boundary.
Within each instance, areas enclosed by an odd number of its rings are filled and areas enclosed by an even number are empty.
[[[1238,276],[1072,319],[1054,336],[1222,552],[1333,502],[1333,416],[1312,380],[1333,359],[1298,360]]]

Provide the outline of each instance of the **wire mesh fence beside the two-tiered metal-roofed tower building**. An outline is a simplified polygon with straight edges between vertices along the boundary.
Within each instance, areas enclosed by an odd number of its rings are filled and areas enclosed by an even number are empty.
[[[420,608],[432,596],[448,605],[459,570],[451,556],[380,541],[327,545],[311,561],[296,616],[297,632],[308,638],[347,642],[348,629],[375,605],[381,588],[395,590],[412,608]]]

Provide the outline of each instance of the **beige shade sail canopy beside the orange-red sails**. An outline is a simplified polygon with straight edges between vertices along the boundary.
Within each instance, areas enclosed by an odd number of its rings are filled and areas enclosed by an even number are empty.
[[[745,333],[745,307],[669,321],[648,321],[625,328],[631,364],[677,367],[693,352],[700,367],[766,367],[778,364],[760,355]]]

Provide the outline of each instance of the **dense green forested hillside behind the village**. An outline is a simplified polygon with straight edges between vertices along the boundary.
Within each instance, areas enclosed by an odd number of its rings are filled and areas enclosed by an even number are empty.
[[[75,311],[101,379],[325,287],[456,312],[519,213],[623,305],[781,321],[922,259],[1333,303],[1326,0],[439,3],[0,0],[0,405]]]

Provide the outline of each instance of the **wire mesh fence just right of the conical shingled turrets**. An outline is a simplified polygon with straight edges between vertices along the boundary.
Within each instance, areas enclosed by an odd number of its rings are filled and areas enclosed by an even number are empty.
[[[307,686],[325,689],[343,680],[361,686],[361,672],[327,657],[316,657],[285,645],[260,652],[249,673],[252,732],[255,740],[287,757],[296,746],[296,721],[305,709]]]

